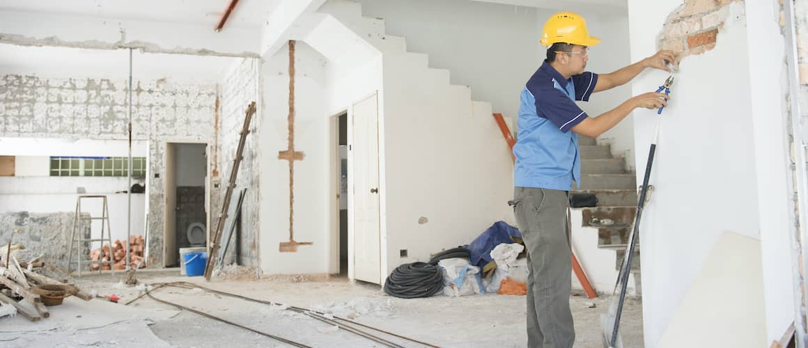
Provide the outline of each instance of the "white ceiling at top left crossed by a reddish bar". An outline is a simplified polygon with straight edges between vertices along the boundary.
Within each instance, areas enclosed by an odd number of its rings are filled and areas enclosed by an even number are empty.
[[[0,10],[216,27],[229,0],[0,0]],[[258,28],[281,0],[241,0],[226,27]]]

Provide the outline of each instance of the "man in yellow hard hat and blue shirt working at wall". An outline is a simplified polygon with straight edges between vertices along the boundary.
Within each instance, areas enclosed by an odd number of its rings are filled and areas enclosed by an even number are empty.
[[[547,60],[522,90],[519,133],[513,153],[516,223],[528,250],[528,346],[571,347],[575,332],[570,312],[571,247],[566,220],[572,182],[580,182],[578,134],[597,137],[634,108],[667,106],[660,93],[640,94],[591,118],[575,104],[592,93],[621,86],[646,68],[667,68],[673,52],[659,51],[613,73],[586,72],[590,36],[584,19],[560,12],[545,23],[541,44]]]

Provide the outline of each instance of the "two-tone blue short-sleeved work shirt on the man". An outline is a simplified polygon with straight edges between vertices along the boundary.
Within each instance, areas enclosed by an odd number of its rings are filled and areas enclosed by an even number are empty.
[[[588,101],[597,82],[588,71],[567,80],[547,61],[533,73],[521,94],[515,186],[569,191],[580,182],[578,135],[570,128],[588,117],[575,100]]]

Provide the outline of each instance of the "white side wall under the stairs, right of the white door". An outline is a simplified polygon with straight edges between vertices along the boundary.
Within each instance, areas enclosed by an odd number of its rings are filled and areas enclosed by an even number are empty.
[[[489,103],[469,103],[467,90],[431,82],[434,75],[411,54],[384,60],[380,191],[386,192],[389,273],[512,219],[513,165]]]

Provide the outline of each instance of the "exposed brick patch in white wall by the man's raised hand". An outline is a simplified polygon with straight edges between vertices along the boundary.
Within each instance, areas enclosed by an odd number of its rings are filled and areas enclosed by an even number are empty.
[[[686,0],[667,18],[658,48],[675,52],[675,65],[684,57],[715,48],[732,2],[742,0]]]

